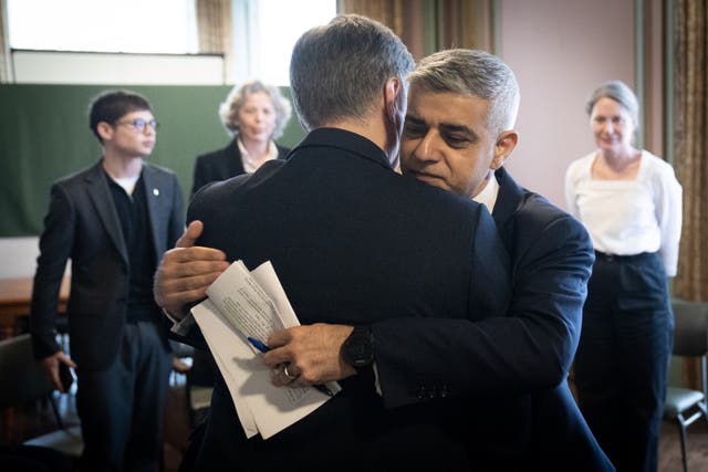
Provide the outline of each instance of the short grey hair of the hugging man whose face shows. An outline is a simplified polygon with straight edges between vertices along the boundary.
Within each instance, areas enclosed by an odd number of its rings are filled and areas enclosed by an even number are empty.
[[[519,112],[519,83],[511,69],[485,51],[451,49],[420,61],[408,76],[410,85],[434,93],[457,93],[489,101],[492,136],[512,129]]]

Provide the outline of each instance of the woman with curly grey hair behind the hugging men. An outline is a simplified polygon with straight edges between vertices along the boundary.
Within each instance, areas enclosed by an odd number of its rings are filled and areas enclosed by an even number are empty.
[[[227,133],[233,136],[225,148],[197,157],[191,193],[215,180],[254,172],[263,162],[284,159],[289,148],[274,143],[291,115],[290,102],[278,87],[250,81],[233,87],[219,107]]]

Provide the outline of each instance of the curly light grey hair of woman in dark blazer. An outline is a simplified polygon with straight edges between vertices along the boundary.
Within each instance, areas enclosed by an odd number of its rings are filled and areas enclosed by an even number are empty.
[[[272,139],[278,139],[283,135],[283,129],[292,115],[290,102],[282,96],[278,87],[266,85],[261,81],[249,81],[241,86],[231,88],[226,101],[219,105],[219,118],[229,135],[239,135],[239,113],[248,97],[258,92],[263,92],[270,97],[275,111],[275,127]]]

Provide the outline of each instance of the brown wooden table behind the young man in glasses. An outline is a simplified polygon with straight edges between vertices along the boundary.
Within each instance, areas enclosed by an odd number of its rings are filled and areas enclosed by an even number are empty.
[[[70,277],[64,277],[59,294],[59,313],[66,313]],[[23,318],[30,316],[32,277],[0,279],[0,339],[21,334]],[[24,323],[27,319],[24,319]]]

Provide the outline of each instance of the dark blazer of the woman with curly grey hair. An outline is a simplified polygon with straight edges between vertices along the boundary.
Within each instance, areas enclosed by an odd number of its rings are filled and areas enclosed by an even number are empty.
[[[191,195],[195,195],[197,190],[207,183],[246,174],[243,162],[241,162],[241,153],[236,139],[237,138],[231,139],[231,143],[225,148],[197,156]],[[275,147],[278,148],[279,159],[284,159],[288,154],[290,154],[290,148],[282,147],[278,144]]]

